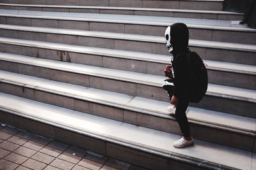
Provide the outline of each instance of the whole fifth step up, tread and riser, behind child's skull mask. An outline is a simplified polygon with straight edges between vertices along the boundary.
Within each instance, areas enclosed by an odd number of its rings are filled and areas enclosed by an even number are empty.
[[[0,24],[0,36],[72,45],[170,55],[164,36],[143,36],[101,31],[82,31]],[[256,45],[189,39],[189,48],[202,59],[256,65]],[[228,54],[228,55],[227,55]],[[243,57],[243,60],[241,60]]]

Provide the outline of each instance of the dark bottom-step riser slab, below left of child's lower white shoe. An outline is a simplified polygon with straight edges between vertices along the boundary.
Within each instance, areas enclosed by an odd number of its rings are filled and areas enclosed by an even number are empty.
[[[149,169],[169,169],[169,160],[163,157],[150,155],[149,153],[138,152],[131,148],[107,143],[107,155],[114,159],[123,160],[125,162],[132,162],[138,166],[147,167]],[[124,155],[124,153],[126,153]]]

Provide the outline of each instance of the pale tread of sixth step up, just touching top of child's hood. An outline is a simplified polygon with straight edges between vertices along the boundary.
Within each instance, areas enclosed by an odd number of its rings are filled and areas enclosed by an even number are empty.
[[[210,20],[200,18],[177,18],[177,17],[156,17],[141,15],[117,15],[102,13],[69,13],[69,12],[53,12],[53,11],[26,11],[26,10],[0,10],[0,16],[10,17],[29,17],[29,18],[45,18],[60,20],[79,20],[94,22],[114,22],[122,24],[146,24],[167,26],[175,22],[184,22],[191,28],[198,29],[216,29],[227,31],[247,31],[256,32],[246,25],[239,24],[238,21],[232,20]],[[111,19],[109,19],[111,18]],[[200,23],[200,25],[198,25]]]

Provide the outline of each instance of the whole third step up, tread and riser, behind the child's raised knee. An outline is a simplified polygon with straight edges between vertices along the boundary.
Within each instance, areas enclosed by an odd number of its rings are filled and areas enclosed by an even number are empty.
[[[169,101],[168,95],[162,88],[162,83],[166,79],[164,76],[8,53],[1,53],[0,59],[3,62],[1,69],[5,71],[146,97],[158,101]],[[255,90],[209,83],[204,99],[199,104],[191,104],[191,106],[255,118],[255,93]]]

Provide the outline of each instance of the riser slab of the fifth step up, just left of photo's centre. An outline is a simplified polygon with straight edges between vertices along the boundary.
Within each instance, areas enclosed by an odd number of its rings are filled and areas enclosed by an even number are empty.
[[[113,49],[114,48],[114,39],[78,36],[77,45],[94,46],[94,47],[100,47],[100,48]]]

